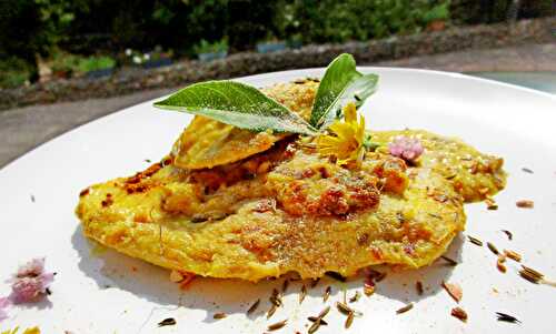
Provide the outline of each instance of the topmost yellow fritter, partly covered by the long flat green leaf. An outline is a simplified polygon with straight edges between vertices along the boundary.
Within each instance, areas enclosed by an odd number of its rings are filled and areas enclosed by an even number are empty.
[[[300,80],[261,90],[291,111],[309,119],[318,81]],[[176,165],[205,169],[231,163],[270,149],[286,134],[251,132],[203,117],[195,117],[173,145]]]

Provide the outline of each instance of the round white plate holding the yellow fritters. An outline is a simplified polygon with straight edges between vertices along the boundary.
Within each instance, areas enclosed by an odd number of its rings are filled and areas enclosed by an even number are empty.
[[[556,99],[553,95],[460,74],[361,68],[380,74],[380,89],[363,108],[371,129],[423,128],[456,135],[483,152],[504,156],[508,186],[496,196],[498,211],[484,203],[466,205],[466,234],[515,250],[524,263],[556,279]],[[302,70],[241,79],[268,85],[300,77],[318,77],[322,70]],[[79,112],[79,110],[76,110]],[[186,292],[168,280],[168,271],[112,251],[100,254],[83,239],[73,215],[83,188],[145,169],[146,159],[157,161],[190,121],[183,113],[156,110],[142,103],[78,128],[33,150],[0,171],[0,280],[8,279],[19,263],[47,256],[56,272],[53,294],[34,306],[11,307],[12,325],[39,325],[43,333],[261,333],[266,326],[289,318],[278,333],[307,332],[306,317],[324,308],[322,291],[332,284],[328,304],[341,300],[341,285],[322,280],[298,305],[300,283],[291,283],[270,321],[268,296],[281,280],[250,284],[232,280],[198,279]],[[522,168],[535,173],[528,174]],[[31,195],[36,202],[31,201]],[[535,209],[518,209],[515,201],[530,199]],[[508,241],[500,230],[510,230]],[[548,333],[554,328],[556,290],[534,285],[517,275],[496,270],[496,257],[486,249],[457,239],[448,255],[456,267],[437,263],[418,271],[389,272],[371,297],[354,307],[351,333]],[[426,293],[418,296],[415,282]],[[440,287],[441,281],[463,286],[459,306],[469,314],[467,324],[450,316],[456,303]],[[348,296],[361,282],[346,284]],[[0,295],[9,284],[0,283]],[[261,298],[251,316],[245,312]],[[406,303],[414,310],[397,315]],[[228,317],[215,321],[214,313]],[[517,316],[522,324],[496,321],[495,312]],[[175,317],[176,326],[157,328]],[[338,333],[345,316],[332,306],[328,326],[318,333]]]

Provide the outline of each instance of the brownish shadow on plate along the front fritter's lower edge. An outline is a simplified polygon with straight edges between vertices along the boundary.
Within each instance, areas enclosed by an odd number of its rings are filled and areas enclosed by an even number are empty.
[[[285,280],[290,281],[284,294],[286,298],[294,294],[294,298],[298,301],[302,285],[307,287],[307,296],[315,298],[322,298],[327,286],[331,287],[329,301],[341,301],[344,291],[347,291],[349,298],[356,290],[361,293],[361,301],[369,298],[363,294],[363,277],[353,277],[347,282],[324,277],[314,287],[310,280],[296,280],[295,275],[261,281],[257,284],[241,280],[202,277],[193,280],[190,286],[182,291],[178,284],[169,281],[168,270],[100,246],[82,235],[81,226],[76,229],[72,244],[80,255],[79,269],[91,277],[99,289],[128,291],[138,298],[159,304],[157,311],[172,312],[180,306],[203,310],[207,312],[203,320],[206,323],[219,321],[214,318],[216,313],[246,314],[257,300],[260,300],[259,306],[248,317],[251,320],[266,317],[271,306],[269,296],[272,289],[281,291]],[[460,262],[461,244],[463,236],[459,234],[446,256]],[[443,290],[441,282],[449,280],[454,266],[439,259],[433,265],[419,270],[396,270],[387,266],[376,269],[387,273],[386,277],[377,283],[375,292],[377,296],[416,303],[439,293]],[[417,281],[423,283],[423,295],[419,295],[415,287]],[[370,296],[370,300],[373,297]]]

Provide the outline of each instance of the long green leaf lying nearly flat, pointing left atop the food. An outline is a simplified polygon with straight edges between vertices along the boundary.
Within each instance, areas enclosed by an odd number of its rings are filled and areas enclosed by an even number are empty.
[[[301,117],[254,87],[235,81],[191,84],[155,107],[207,117],[251,131],[275,130],[315,135]]]

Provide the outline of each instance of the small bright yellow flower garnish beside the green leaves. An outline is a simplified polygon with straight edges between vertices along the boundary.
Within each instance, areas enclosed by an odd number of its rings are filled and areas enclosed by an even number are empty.
[[[365,118],[359,117],[357,122],[357,109],[355,103],[344,107],[344,122],[335,121],[328,131],[330,134],[320,135],[317,139],[320,155],[334,155],[337,163],[345,165],[350,161],[359,164],[365,155]]]

